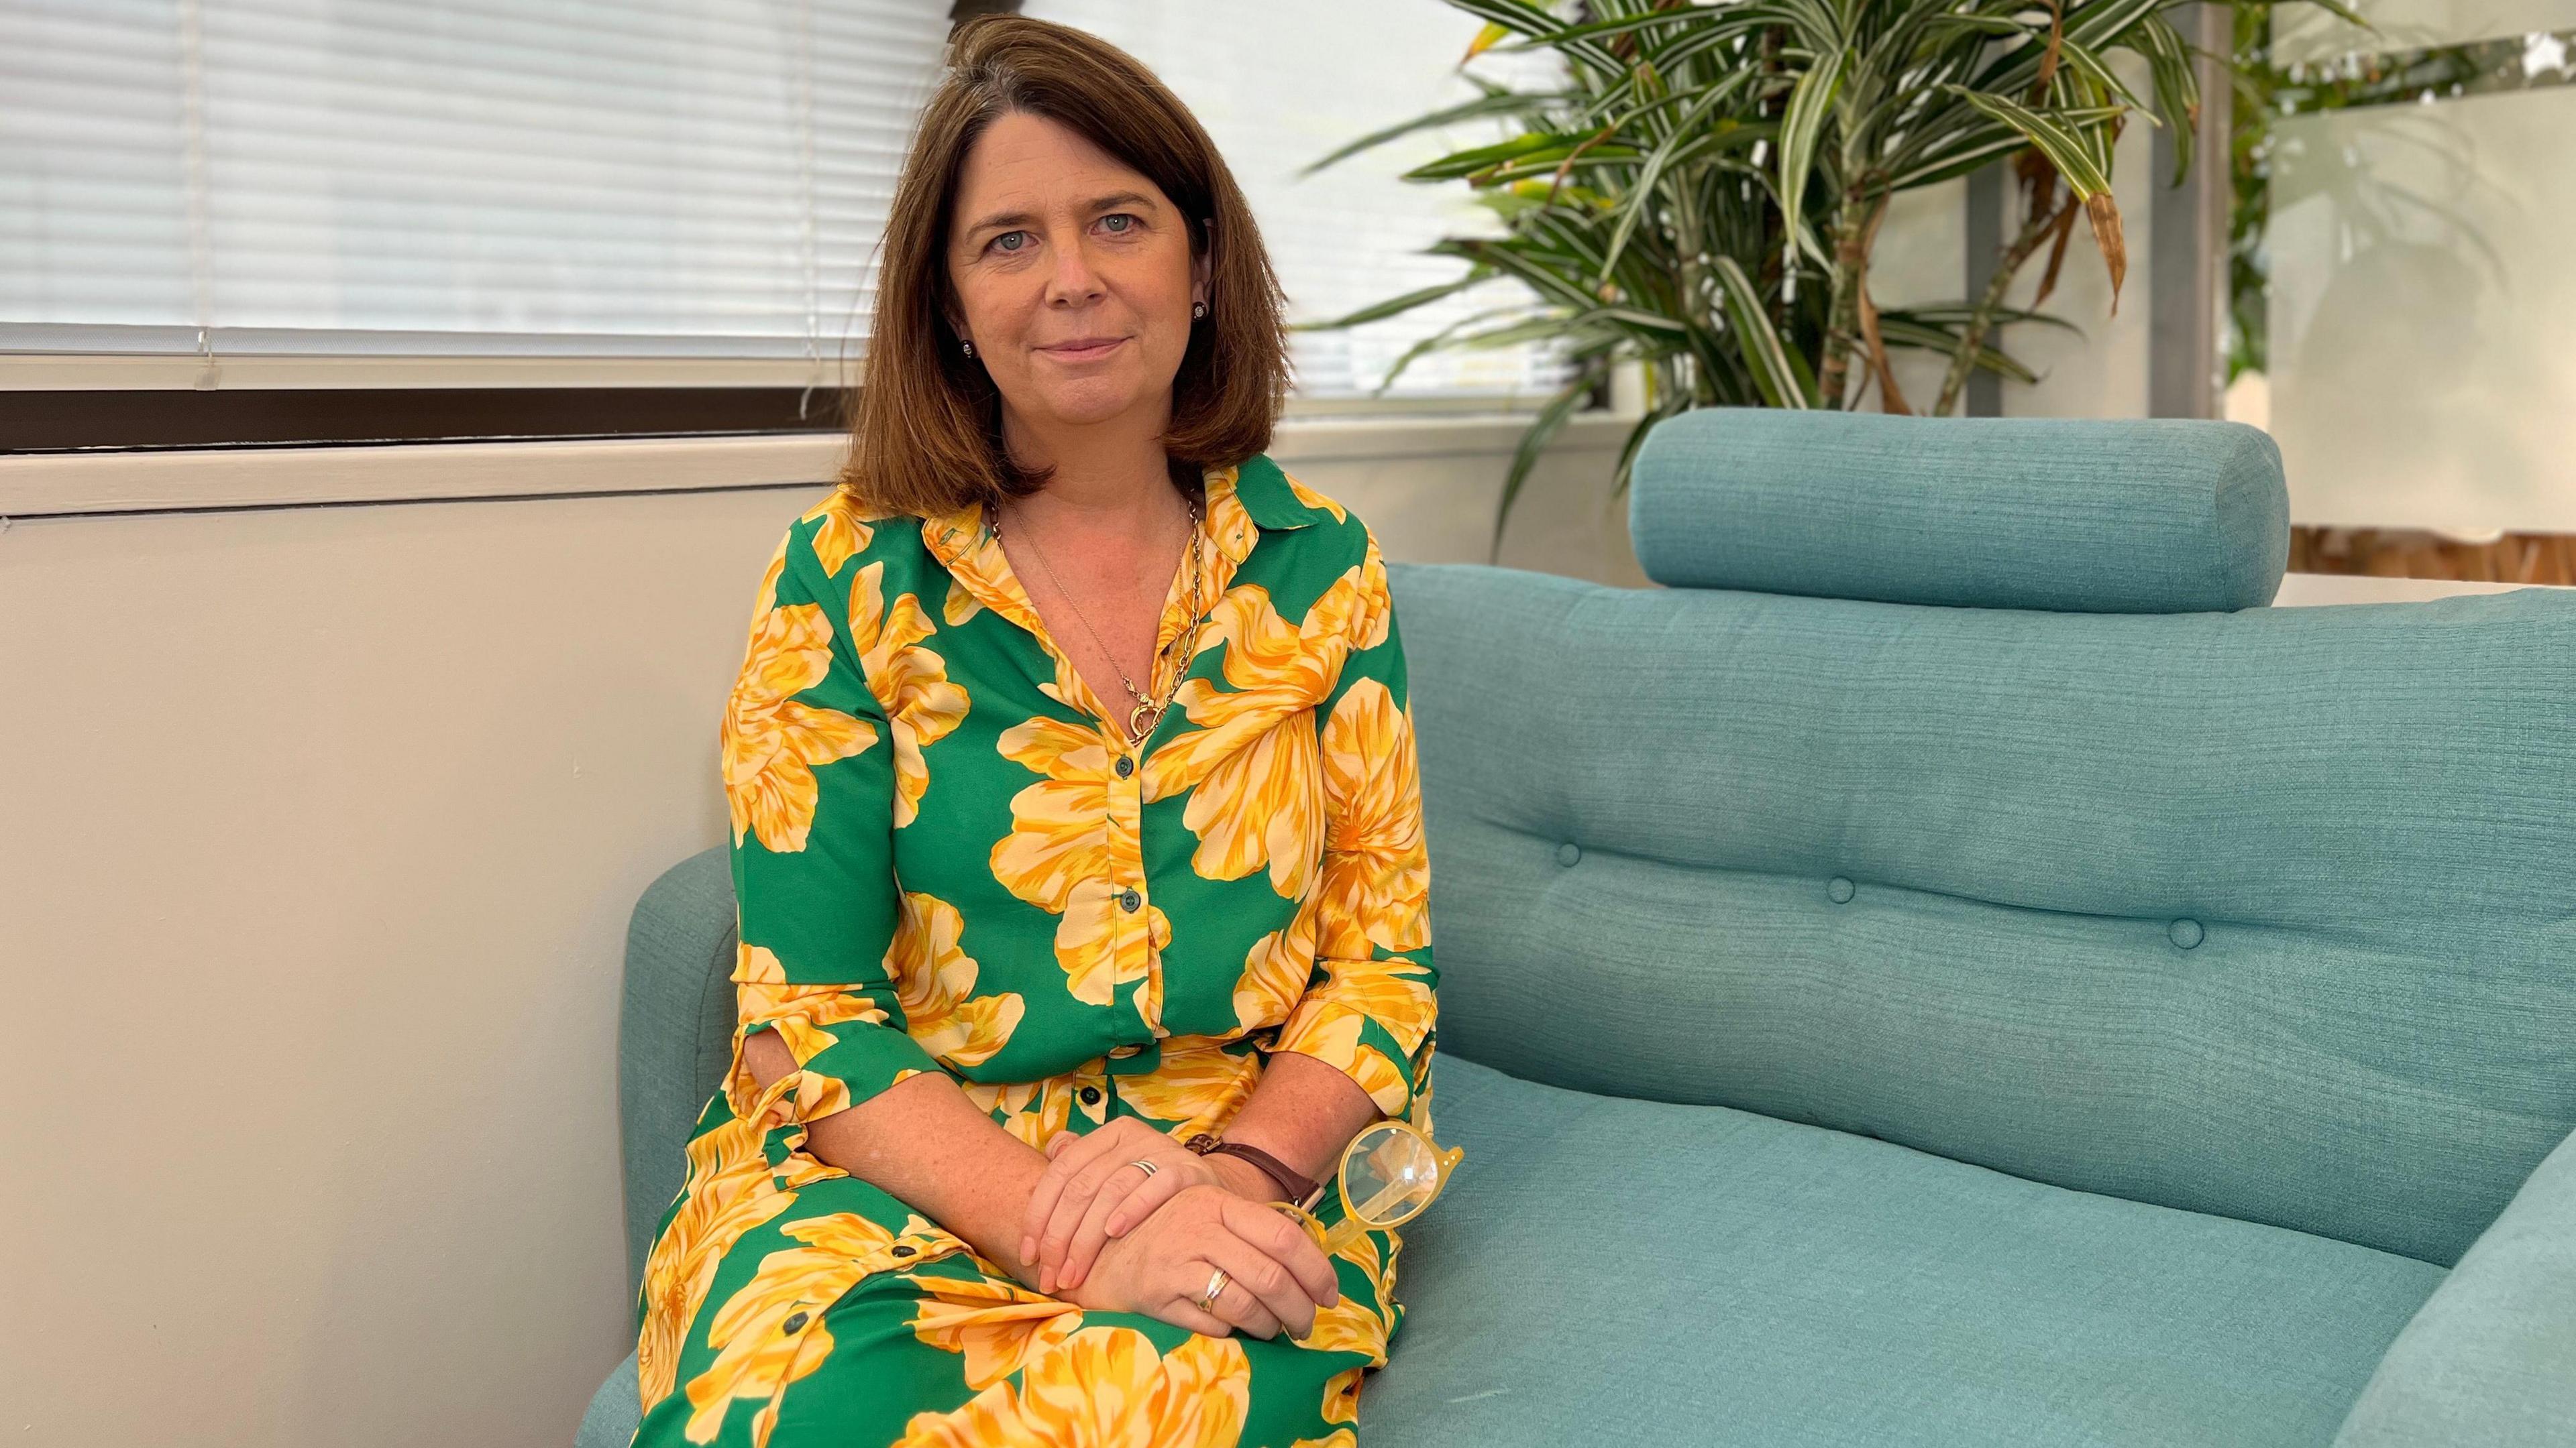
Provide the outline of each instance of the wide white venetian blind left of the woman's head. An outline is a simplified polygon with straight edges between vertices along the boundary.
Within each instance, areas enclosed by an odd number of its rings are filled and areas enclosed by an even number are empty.
[[[0,0],[0,350],[855,358],[948,0]]]

